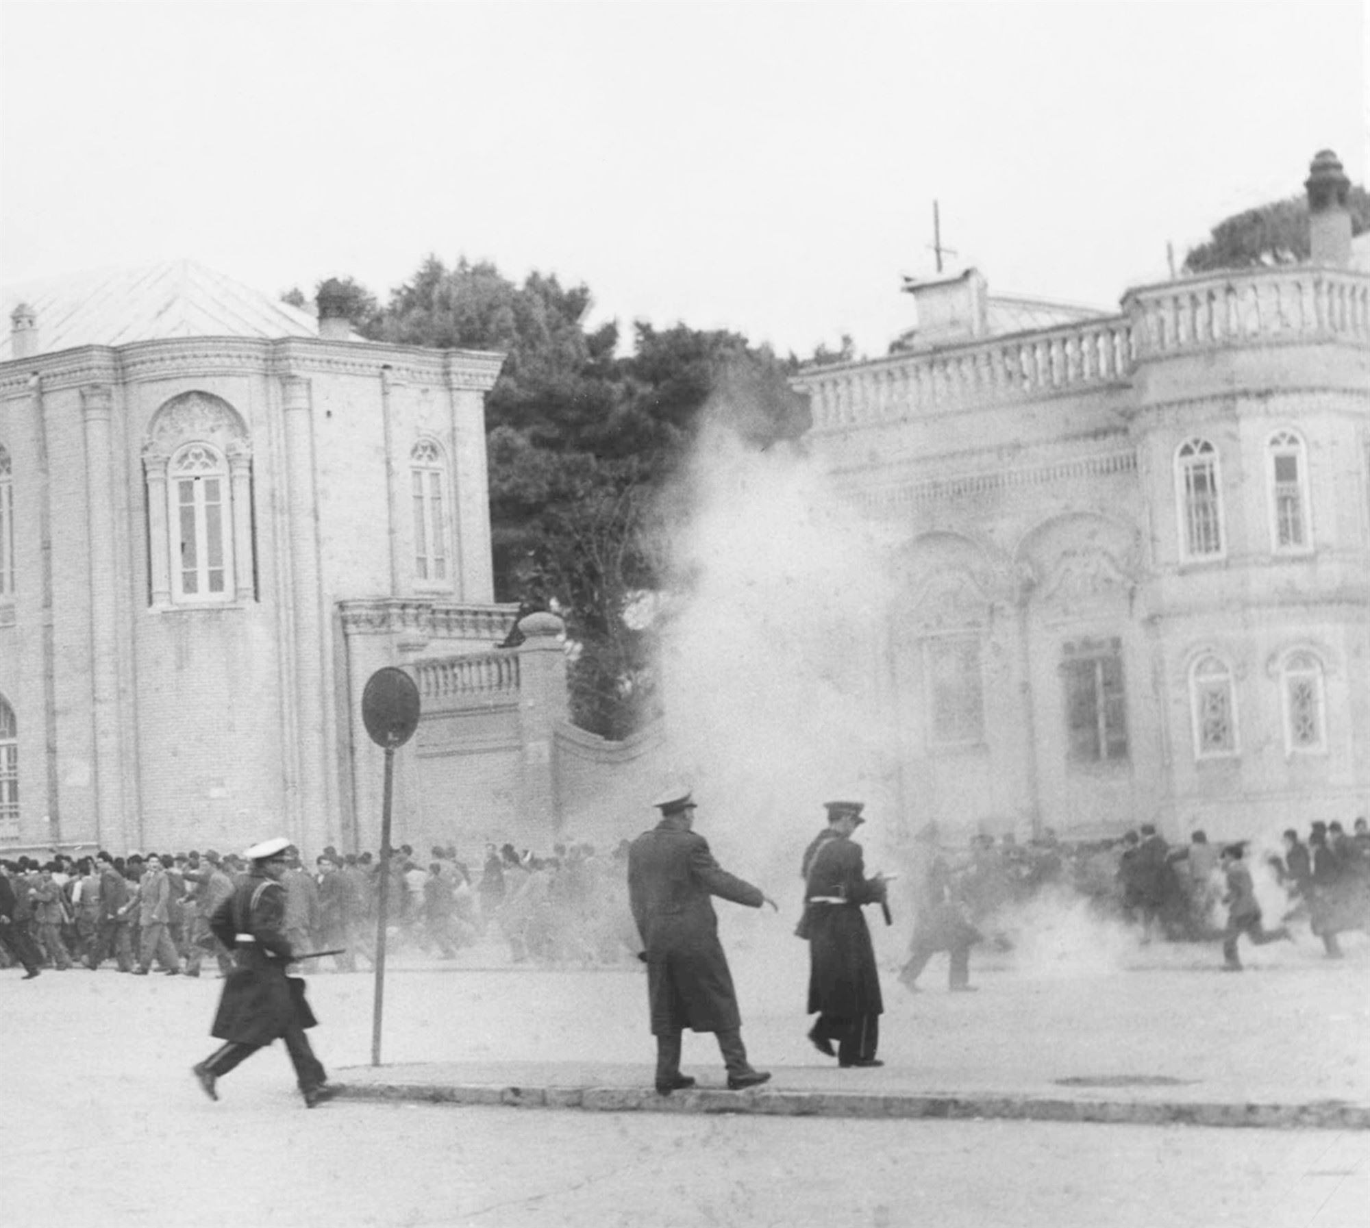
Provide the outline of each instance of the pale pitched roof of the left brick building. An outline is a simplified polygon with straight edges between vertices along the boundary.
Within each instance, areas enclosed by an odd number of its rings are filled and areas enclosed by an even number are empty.
[[[316,337],[310,311],[206,269],[166,260],[0,288],[0,362],[12,358],[10,312],[33,308],[38,352],[166,337]]]

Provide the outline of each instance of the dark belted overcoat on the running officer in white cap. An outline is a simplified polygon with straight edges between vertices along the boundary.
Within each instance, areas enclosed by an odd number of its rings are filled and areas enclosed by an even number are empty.
[[[288,977],[293,951],[282,932],[285,888],[249,874],[210,917],[214,936],[233,951],[237,968],[223,981],[211,1036],[241,1044],[270,1044],[292,1027],[316,1022],[304,1000],[304,980]]]

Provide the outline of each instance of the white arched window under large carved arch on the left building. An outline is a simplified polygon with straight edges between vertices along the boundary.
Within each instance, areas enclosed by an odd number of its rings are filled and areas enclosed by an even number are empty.
[[[233,514],[229,466],[208,444],[188,444],[167,466],[171,530],[171,599],[233,598]]]

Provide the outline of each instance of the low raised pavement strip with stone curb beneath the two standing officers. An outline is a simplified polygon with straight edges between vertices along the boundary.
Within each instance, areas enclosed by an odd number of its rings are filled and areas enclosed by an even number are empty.
[[[688,1068],[686,1068],[688,1069]],[[917,1070],[775,1068],[770,1083],[727,1091],[721,1073],[660,1096],[652,1068],[555,1062],[406,1064],[337,1072],[340,1098],[429,1105],[503,1105],[592,1112],[756,1113],[778,1117],[1003,1118],[1126,1122],[1132,1125],[1314,1127],[1370,1129],[1370,1103],[1347,1101],[1249,1102],[1230,1088],[1193,1080],[1117,1076],[1107,1085],[934,1087]],[[1097,1083],[1097,1081],[1092,1081]],[[1222,1098],[1223,1092],[1228,1098]]]

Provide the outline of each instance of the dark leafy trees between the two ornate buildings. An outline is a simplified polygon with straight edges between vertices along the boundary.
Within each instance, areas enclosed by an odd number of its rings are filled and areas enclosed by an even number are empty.
[[[349,278],[338,284],[366,303]],[[619,356],[615,323],[586,328],[590,304],[586,286],[552,274],[516,285],[488,262],[429,256],[374,317],[349,318],[375,340],[506,352],[486,397],[496,596],[556,607],[574,720],[623,737],[655,710],[641,610],[663,582],[662,492],[706,407],[756,447],[810,419],[785,381],[793,359],[737,333],[643,321]]]

